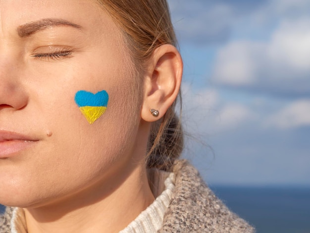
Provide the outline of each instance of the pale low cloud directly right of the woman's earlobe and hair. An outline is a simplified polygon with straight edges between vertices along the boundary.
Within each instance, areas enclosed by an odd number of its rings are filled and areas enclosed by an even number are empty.
[[[184,123],[187,131],[217,133],[257,120],[257,114],[237,102],[224,102],[215,89],[193,90],[186,83],[182,88]]]

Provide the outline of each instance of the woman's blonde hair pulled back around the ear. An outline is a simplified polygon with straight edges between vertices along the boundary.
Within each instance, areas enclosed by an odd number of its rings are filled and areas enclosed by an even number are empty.
[[[177,46],[166,0],[97,1],[122,30],[138,72],[144,70],[144,64],[156,48],[163,44]],[[178,99],[181,102],[180,93]],[[183,131],[175,107],[176,101],[152,124],[148,168],[169,171],[183,150]]]

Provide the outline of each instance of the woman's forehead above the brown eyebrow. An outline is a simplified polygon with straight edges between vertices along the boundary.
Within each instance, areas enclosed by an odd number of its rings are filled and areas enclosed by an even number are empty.
[[[64,19],[84,30],[116,29],[112,19],[93,0],[0,0],[0,27],[9,27],[45,18]]]

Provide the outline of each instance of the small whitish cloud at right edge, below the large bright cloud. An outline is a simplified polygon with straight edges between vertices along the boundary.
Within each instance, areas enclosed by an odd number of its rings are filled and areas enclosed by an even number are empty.
[[[310,126],[310,100],[298,100],[271,115],[266,126],[282,129]]]

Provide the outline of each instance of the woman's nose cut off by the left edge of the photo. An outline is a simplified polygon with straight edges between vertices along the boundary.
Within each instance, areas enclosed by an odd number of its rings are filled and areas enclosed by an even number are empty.
[[[0,55],[0,112],[3,109],[20,110],[27,105],[21,73],[16,60]]]

